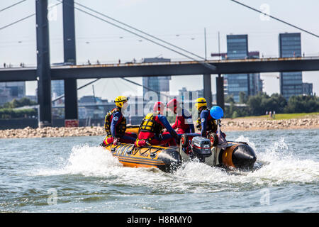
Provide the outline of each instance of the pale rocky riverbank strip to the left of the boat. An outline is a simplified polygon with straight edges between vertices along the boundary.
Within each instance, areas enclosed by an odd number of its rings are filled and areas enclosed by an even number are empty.
[[[22,128],[6,129],[0,131],[0,138],[44,138],[44,137],[68,137],[105,135],[103,127],[79,127],[79,128]]]

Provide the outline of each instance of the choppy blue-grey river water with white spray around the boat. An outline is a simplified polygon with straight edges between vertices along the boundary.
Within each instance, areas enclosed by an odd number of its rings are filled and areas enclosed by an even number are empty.
[[[123,167],[103,137],[0,140],[1,212],[318,212],[319,131],[237,131],[254,171]]]

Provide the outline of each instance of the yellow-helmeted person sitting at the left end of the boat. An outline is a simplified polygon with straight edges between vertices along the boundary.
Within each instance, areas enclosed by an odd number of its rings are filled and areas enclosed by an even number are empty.
[[[109,111],[105,116],[104,128],[106,138],[102,145],[117,145],[119,143],[134,143],[137,135],[135,133],[125,133],[126,119],[122,114],[122,110],[128,108],[128,98],[126,96],[118,96],[114,100],[116,107]]]

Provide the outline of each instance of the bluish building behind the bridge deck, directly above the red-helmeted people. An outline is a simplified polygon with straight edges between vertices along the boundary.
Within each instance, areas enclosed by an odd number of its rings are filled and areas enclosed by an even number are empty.
[[[152,57],[145,58],[142,62],[170,62],[169,58],[162,57]],[[167,77],[143,77],[143,96],[145,96],[146,92],[149,90],[145,87],[149,87],[150,89],[156,92],[167,92],[169,93],[169,80],[171,76]]]

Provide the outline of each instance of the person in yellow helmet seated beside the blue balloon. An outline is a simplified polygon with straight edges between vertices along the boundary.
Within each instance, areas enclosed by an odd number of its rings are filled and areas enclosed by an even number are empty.
[[[195,103],[196,109],[198,111],[198,119],[196,128],[201,131],[201,136],[208,137],[211,133],[216,133],[217,131],[217,119],[214,119],[210,110],[207,108],[207,102],[204,98],[196,99]]]

